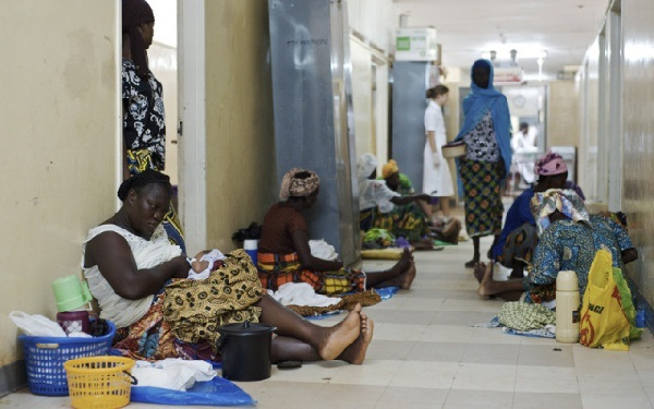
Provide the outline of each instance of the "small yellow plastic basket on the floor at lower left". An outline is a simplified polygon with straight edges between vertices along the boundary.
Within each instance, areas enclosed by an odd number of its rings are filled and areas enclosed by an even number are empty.
[[[65,361],[71,405],[77,409],[122,408],[130,402],[134,360],[88,357]]]

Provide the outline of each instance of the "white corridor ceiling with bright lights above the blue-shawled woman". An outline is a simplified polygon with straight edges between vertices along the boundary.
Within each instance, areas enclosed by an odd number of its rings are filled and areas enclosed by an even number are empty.
[[[518,50],[525,79],[536,80],[535,58],[545,50],[544,79],[579,65],[602,28],[610,0],[393,0],[408,27],[433,26],[443,65],[470,68],[482,51]],[[399,23],[398,23],[399,24]]]

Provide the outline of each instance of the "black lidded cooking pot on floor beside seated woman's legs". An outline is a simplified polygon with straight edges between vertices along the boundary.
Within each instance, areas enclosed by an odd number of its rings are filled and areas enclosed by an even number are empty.
[[[230,381],[263,381],[270,377],[270,345],[274,326],[257,323],[218,327],[222,377]]]

